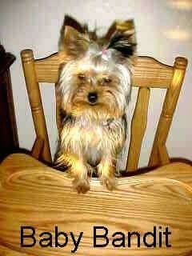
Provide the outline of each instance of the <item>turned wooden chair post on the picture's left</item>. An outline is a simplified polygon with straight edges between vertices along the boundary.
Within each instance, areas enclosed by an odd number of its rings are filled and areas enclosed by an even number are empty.
[[[51,162],[50,144],[46,130],[46,119],[42,108],[42,98],[34,68],[34,54],[32,50],[22,50],[22,66],[26,79],[26,89],[30,100],[30,108],[34,120],[37,138],[43,140],[42,159]]]

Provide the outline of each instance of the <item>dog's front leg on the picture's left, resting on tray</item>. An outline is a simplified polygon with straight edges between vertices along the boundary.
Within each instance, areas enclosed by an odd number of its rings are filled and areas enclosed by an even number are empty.
[[[87,169],[83,158],[77,154],[65,153],[60,155],[58,162],[64,162],[69,166],[71,177],[74,178],[73,186],[78,193],[85,194],[90,190],[90,183],[87,178]]]

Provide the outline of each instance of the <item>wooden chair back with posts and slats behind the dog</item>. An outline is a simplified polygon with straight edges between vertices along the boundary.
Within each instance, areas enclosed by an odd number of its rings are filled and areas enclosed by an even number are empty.
[[[63,63],[62,53],[52,54],[47,58],[34,59],[32,50],[22,50],[22,66],[26,79],[26,88],[30,99],[30,107],[37,135],[36,144],[42,147],[42,158],[51,162],[50,144],[46,130],[46,120],[42,108],[39,82],[58,82],[59,67]],[[133,86],[138,86],[138,98],[131,121],[130,146],[126,170],[138,169],[138,160],[142,147],[142,139],[146,131],[150,88],[164,88],[166,96],[158,128],[154,136],[154,144],[150,154],[149,166],[161,166],[168,163],[166,138],[173,119],[174,110],[186,73],[186,58],[177,57],[174,66],[168,66],[150,57],[138,57],[134,66]],[[56,94],[57,125],[60,129],[59,98]],[[37,149],[36,149],[37,150]]]

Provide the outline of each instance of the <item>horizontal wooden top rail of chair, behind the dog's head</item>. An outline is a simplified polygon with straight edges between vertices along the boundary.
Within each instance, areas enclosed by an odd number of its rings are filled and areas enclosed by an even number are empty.
[[[35,61],[38,82],[58,82],[58,71],[65,62],[61,53]],[[134,60],[133,85],[138,87],[169,88],[173,67],[150,57],[137,57]]]

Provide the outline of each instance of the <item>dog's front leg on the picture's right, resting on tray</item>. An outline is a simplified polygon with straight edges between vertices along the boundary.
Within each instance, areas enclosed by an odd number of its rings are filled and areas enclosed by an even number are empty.
[[[115,164],[113,159],[110,157],[102,158],[101,162],[98,164],[98,174],[101,176],[101,182],[108,190],[113,190],[115,187],[114,178]]]

